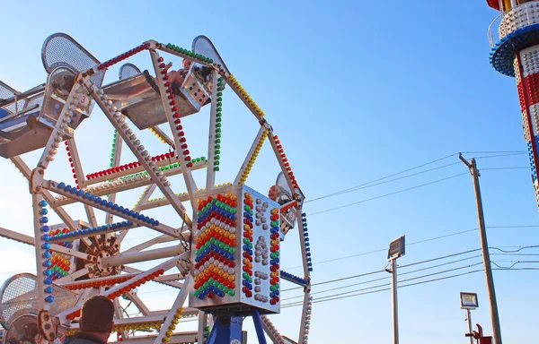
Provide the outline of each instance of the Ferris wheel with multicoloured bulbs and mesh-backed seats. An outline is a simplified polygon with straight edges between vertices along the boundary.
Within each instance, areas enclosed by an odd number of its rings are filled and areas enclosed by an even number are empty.
[[[0,156],[11,159],[28,180],[34,237],[3,228],[0,235],[34,245],[37,266],[37,276],[17,274],[0,290],[4,343],[33,343],[36,338],[59,343],[77,331],[81,306],[94,295],[109,297],[116,305],[114,331],[124,343],[241,343],[245,316],[252,316],[261,343],[266,342],[264,332],[274,343],[296,342],[281,336],[270,322],[270,314],[280,312],[282,280],[304,289],[297,343],[306,343],[312,262],[304,194],[264,112],[229,72],[211,41],[199,36],[188,50],[149,40],[101,63],[74,39],[57,33],[45,40],[41,54],[49,75],[46,83],[18,92],[0,82]],[[117,82],[102,84],[110,66],[137,54],[149,56],[152,72],[123,64]],[[165,59],[171,56],[192,62],[181,83],[168,71]],[[260,130],[253,133],[252,147],[234,182],[215,185],[223,162],[225,86],[252,112]],[[183,122],[207,105],[208,158],[192,159]],[[75,133],[84,130],[81,124],[90,120],[95,106],[112,125],[114,144],[110,168],[85,175]],[[172,151],[150,155],[137,138],[146,130]],[[266,139],[282,170],[270,196],[245,185]],[[62,146],[73,182],[50,176],[49,166]],[[21,155],[35,150],[42,154],[30,167]],[[130,150],[135,161],[121,164],[122,150]],[[193,177],[199,169],[205,169],[205,185],[198,186]],[[174,180],[172,188],[169,178],[176,175],[182,180]],[[119,193],[139,188],[142,194],[132,209],[116,202]],[[150,199],[157,190],[163,197]],[[77,203],[87,219],[75,219],[67,211],[67,205]],[[168,206],[178,215],[176,220],[142,213]],[[104,219],[98,219],[95,210],[103,211]],[[61,223],[51,223],[50,212]],[[280,270],[281,245],[293,234],[296,219],[301,277]],[[124,249],[122,241],[134,228],[149,228],[159,236]],[[129,266],[137,262],[155,263],[146,270]],[[145,305],[137,287],[147,282],[178,291],[169,309],[154,311]],[[141,316],[124,318],[122,297],[136,305]],[[199,331],[181,331],[182,318],[193,316],[198,316]]]

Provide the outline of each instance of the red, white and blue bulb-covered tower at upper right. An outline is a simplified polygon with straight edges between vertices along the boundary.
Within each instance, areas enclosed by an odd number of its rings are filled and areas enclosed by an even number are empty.
[[[539,204],[539,1],[487,0],[500,12],[490,24],[490,64],[517,80],[522,126]]]

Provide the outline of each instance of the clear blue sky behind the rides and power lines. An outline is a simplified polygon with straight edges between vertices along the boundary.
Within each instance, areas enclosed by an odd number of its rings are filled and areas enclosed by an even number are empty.
[[[265,110],[283,142],[299,185],[310,199],[458,151],[526,150],[515,80],[496,73],[488,61],[486,31],[498,13],[484,0],[208,1],[197,6],[179,2],[94,1],[89,5],[49,1],[10,2],[4,4],[3,10],[0,80],[19,90],[45,82],[40,47],[49,34],[57,31],[71,35],[102,61],[146,39],[190,47],[195,36],[207,35],[234,76]],[[172,61],[180,65],[178,59]],[[134,62],[142,68],[150,66],[147,56],[137,56]],[[106,82],[115,81],[117,71],[111,68]],[[207,155],[207,125],[207,113],[190,119],[186,125],[194,156]],[[234,179],[256,126],[234,95],[225,93],[219,183]],[[81,154],[85,154],[85,172],[108,167],[111,133],[111,126],[106,126],[99,111],[81,125],[76,134]],[[148,134],[142,136],[152,139]],[[155,141],[147,146],[152,153],[164,150]],[[489,154],[465,154],[467,158],[484,155]],[[28,160],[35,158],[30,154]],[[127,157],[125,161],[128,160]],[[456,161],[454,156],[432,167]],[[478,165],[524,167],[527,158],[520,154],[478,159]],[[60,152],[48,177],[70,181],[66,168],[65,154]],[[264,192],[277,172],[277,164],[266,147],[247,185]],[[324,211],[464,172],[463,165],[440,168],[307,203],[305,211]],[[31,198],[27,185],[7,160],[0,160],[0,175],[4,194],[0,199],[0,226],[30,234]],[[487,226],[539,225],[528,169],[484,170],[481,183]],[[119,202],[131,206],[137,195],[128,193]],[[74,211],[83,216],[82,211]],[[162,222],[177,222],[172,211],[154,213]],[[381,270],[386,263],[385,252],[317,262],[384,249],[401,234],[406,234],[408,242],[415,242],[477,227],[472,179],[466,175],[308,219],[314,283]],[[537,231],[538,228],[490,228],[490,246],[515,249],[518,245],[539,245]],[[144,239],[134,233],[133,237],[125,245]],[[477,231],[449,236],[410,245],[399,263],[455,254],[479,245]],[[0,249],[4,261],[11,258],[9,264],[0,267],[1,280],[15,272],[34,269],[30,248],[2,239]],[[287,236],[285,250],[287,261],[282,266],[296,267],[296,232]],[[521,253],[539,254],[539,250]],[[507,261],[534,260],[534,256],[494,255],[493,260],[510,265],[513,262]],[[480,260],[457,262],[406,278],[474,262]],[[536,264],[516,267],[524,266]],[[300,273],[299,269],[289,271]],[[377,277],[384,275],[373,278]],[[494,278],[505,342],[535,339],[529,330],[536,325],[535,310],[539,307],[537,271],[495,271]],[[362,280],[370,277],[326,284],[314,291]],[[334,293],[371,285],[376,283]],[[162,288],[148,287],[146,297],[155,306],[172,305],[172,298],[164,297]],[[490,334],[484,276],[474,273],[402,288],[402,344],[466,342],[464,311],[458,305],[460,291],[479,293],[480,308],[473,312],[473,321],[482,323]],[[297,295],[288,292],[283,298]],[[297,299],[284,300],[283,304],[292,300]],[[298,308],[287,308],[272,320],[281,333],[296,338],[299,314]],[[245,328],[252,330],[250,321],[246,321]],[[250,342],[255,338],[251,331]],[[388,291],[314,304],[312,343],[388,343],[391,338]]]

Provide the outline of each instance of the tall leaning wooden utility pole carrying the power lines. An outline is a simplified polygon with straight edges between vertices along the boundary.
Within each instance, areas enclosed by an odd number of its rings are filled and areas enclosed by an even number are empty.
[[[483,215],[482,209],[482,198],[481,198],[481,188],[479,186],[479,170],[475,163],[475,159],[472,159],[471,162],[464,159],[462,154],[458,154],[458,158],[461,159],[464,164],[470,169],[470,173],[473,176],[473,189],[475,190],[475,202],[477,205],[477,216],[479,218],[479,232],[481,234],[481,248],[482,248],[482,258],[483,265],[485,268],[485,277],[487,279],[487,291],[489,293],[489,302],[490,302],[490,319],[492,321],[492,334],[494,337],[495,344],[502,344],[501,341],[501,329],[499,328],[499,314],[498,314],[498,303],[496,301],[496,290],[494,289],[494,279],[492,278],[492,268],[490,267],[490,254],[489,254],[489,244],[487,242],[487,231],[485,228],[485,218]]]

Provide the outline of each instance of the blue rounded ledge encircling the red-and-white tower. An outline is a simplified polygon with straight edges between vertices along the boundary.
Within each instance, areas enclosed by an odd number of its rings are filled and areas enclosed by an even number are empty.
[[[517,51],[533,47],[539,44],[539,24],[526,26],[525,28],[509,33],[490,51],[490,64],[499,73],[515,76],[513,60]]]

